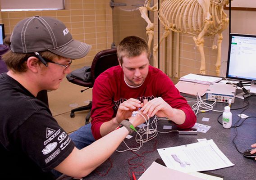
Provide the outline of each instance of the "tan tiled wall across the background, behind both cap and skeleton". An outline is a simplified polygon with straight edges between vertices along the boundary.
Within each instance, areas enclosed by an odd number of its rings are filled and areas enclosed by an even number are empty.
[[[235,0],[233,0],[235,1]],[[236,0],[238,1],[238,0]],[[248,1],[248,0],[247,0]],[[249,0],[250,1],[250,0]],[[252,0],[253,1],[253,0]],[[157,0],[154,0],[157,2]],[[253,1],[254,2],[254,1]],[[74,61],[75,64],[91,62],[97,52],[103,49],[109,49],[113,41],[112,30],[112,9],[110,0],[65,0],[64,10],[50,11],[22,11],[22,12],[1,12],[0,23],[5,24],[5,34],[11,34],[14,26],[23,18],[40,15],[57,18],[64,22],[73,35],[73,38],[92,45],[89,54],[82,59]],[[256,2],[254,2],[256,4]],[[229,10],[224,10],[229,15]],[[256,34],[256,11],[232,10],[231,12],[231,32]],[[154,44],[158,43],[158,19],[157,12],[154,13],[155,36]],[[141,18],[141,17],[138,17]],[[164,28],[160,25],[160,37]],[[169,48],[170,35],[166,40],[167,48],[165,49],[166,59],[164,59],[163,43],[160,46],[160,69],[173,76],[184,76],[188,73],[199,73],[201,61],[199,51],[192,40],[191,35],[180,34],[180,41],[176,42],[176,33],[172,35],[173,48]],[[215,63],[217,51],[212,49],[213,37],[204,38],[204,51],[206,56],[206,74],[215,75]],[[229,27],[223,32],[221,61],[228,58],[228,40]],[[179,43],[179,64],[178,75],[175,74],[176,43]],[[172,58],[169,60],[169,56]],[[171,63],[172,71],[169,71]],[[226,72],[226,63],[222,63],[220,76]]]

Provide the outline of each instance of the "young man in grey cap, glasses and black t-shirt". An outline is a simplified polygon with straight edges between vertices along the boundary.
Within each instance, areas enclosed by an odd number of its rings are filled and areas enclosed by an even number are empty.
[[[10,41],[11,50],[3,55],[9,71],[0,74],[3,179],[50,180],[55,179],[53,169],[84,177],[132,133],[131,124],[137,126],[145,121],[141,116],[130,117],[130,121],[124,120],[123,127],[104,138],[86,148],[76,148],[49,107],[36,96],[41,90],[58,89],[70,72],[72,59],[87,55],[91,46],[73,40],[59,20],[38,16],[20,21]]]

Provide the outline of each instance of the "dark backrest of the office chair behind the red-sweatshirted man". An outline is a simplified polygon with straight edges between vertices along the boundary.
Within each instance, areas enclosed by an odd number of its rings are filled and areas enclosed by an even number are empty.
[[[102,50],[96,54],[91,63],[91,79],[94,84],[95,79],[110,67],[119,65],[116,48]]]

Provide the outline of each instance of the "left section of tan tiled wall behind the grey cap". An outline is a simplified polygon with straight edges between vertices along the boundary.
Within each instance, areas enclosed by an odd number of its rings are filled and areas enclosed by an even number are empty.
[[[5,35],[10,35],[22,19],[35,15],[57,18],[71,32],[73,39],[92,45],[85,58],[74,64],[92,62],[97,52],[110,49],[113,41],[110,0],[65,0],[63,10],[1,12],[0,23],[5,24]]]

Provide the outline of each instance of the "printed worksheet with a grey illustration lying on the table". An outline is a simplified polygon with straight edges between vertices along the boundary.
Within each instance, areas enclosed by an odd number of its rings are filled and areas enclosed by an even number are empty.
[[[157,150],[167,167],[186,173],[234,166],[212,139]]]

